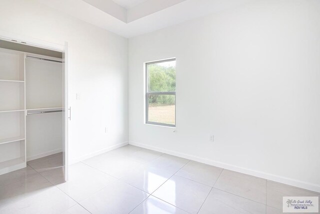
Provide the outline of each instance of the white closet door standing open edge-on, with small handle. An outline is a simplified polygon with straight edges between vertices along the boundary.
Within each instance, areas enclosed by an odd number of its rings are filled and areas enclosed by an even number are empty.
[[[67,70],[67,56],[68,44],[65,42],[64,52],[62,52],[62,153],[63,153],[63,170],[64,180],[68,180],[68,121],[71,120],[71,108],[68,107],[68,70]]]

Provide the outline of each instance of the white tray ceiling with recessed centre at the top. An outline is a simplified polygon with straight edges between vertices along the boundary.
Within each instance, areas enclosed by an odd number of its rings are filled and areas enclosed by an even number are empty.
[[[37,0],[126,38],[253,0]]]

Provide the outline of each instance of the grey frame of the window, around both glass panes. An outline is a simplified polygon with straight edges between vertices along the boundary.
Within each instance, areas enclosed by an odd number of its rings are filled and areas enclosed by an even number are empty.
[[[162,60],[156,60],[151,62],[144,63],[144,69],[145,69],[145,95],[144,95],[144,101],[145,101],[145,124],[151,124],[151,125],[158,125],[158,126],[166,126],[166,127],[173,127],[176,126],[176,94],[175,91],[159,91],[159,92],[149,92],[148,91],[148,65],[161,63],[161,62],[170,62],[170,61],[176,61],[175,58],[169,58],[169,59],[162,59]],[[175,80],[176,81],[176,80]],[[148,95],[174,95],[174,124],[167,124],[167,123],[157,123],[157,122],[151,122],[149,121],[149,99]]]

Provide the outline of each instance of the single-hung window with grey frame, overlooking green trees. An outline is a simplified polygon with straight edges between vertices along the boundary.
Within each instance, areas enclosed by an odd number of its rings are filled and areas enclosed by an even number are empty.
[[[145,123],[175,127],[175,59],[145,63]]]

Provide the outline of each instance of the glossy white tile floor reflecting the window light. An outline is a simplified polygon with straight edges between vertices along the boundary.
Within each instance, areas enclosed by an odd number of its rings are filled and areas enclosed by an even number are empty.
[[[0,176],[0,214],[281,214],[319,193],[127,145],[69,167],[62,154]]]

